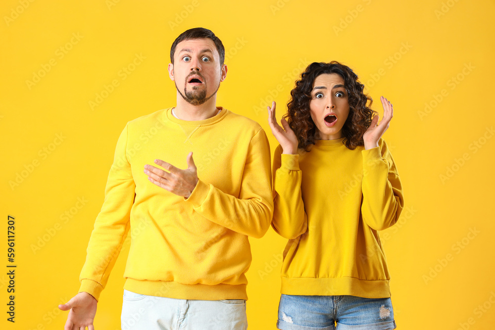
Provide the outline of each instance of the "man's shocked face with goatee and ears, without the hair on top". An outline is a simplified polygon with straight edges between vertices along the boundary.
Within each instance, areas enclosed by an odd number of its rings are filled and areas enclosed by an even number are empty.
[[[215,95],[227,75],[227,66],[220,65],[211,39],[185,40],[177,44],[168,73],[179,94],[192,105],[200,105]]]

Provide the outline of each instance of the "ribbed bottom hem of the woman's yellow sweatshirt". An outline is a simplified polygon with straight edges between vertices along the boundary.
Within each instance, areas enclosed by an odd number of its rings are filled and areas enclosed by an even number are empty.
[[[287,278],[282,277],[282,294],[353,295],[363,298],[389,298],[390,280],[366,281],[353,277]]]

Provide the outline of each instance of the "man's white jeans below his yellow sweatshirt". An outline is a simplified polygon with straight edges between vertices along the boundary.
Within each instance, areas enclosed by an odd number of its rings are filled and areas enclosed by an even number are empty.
[[[122,330],[246,330],[246,300],[186,300],[124,290]]]

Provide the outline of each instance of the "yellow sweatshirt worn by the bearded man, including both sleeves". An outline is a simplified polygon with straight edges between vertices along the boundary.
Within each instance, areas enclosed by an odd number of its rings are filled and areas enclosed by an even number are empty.
[[[273,214],[270,150],[259,124],[219,109],[206,120],[180,120],[169,108],[127,123],[80,292],[99,299],[130,232],[125,289],[180,299],[247,299],[247,236],[263,236]],[[162,159],[185,169],[190,151],[199,181],[189,198],[148,181],[146,164]]]

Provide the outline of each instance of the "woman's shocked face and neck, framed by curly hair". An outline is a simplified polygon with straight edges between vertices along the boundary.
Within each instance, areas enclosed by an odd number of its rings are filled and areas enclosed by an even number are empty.
[[[344,79],[337,73],[316,77],[309,102],[311,118],[316,125],[316,140],[342,138],[342,127],[349,115],[348,97]]]

